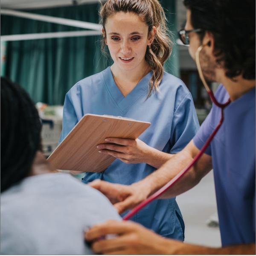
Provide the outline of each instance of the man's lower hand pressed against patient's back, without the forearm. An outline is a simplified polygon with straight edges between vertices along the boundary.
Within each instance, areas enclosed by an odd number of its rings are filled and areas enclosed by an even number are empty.
[[[111,239],[98,240],[108,234],[117,234]],[[158,236],[151,230],[132,221],[106,221],[95,225],[84,235],[87,241],[93,241],[92,249],[96,253],[120,254],[169,254],[172,240]],[[181,242],[173,241],[176,246]]]

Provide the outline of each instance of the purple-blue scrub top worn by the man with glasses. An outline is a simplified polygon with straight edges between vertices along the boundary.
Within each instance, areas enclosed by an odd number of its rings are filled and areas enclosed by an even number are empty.
[[[223,85],[215,97],[227,101]],[[213,105],[193,139],[197,148],[220,117],[220,108]],[[222,245],[255,243],[255,89],[224,109],[224,123],[206,153],[212,155]]]

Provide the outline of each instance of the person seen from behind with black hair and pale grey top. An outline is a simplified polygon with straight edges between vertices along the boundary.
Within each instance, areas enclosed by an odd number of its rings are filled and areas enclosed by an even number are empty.
[[[40,134],[28,94],[1,78],[0,254],[91,254],[83,230],[120,217],[96,189],[53,172]]]

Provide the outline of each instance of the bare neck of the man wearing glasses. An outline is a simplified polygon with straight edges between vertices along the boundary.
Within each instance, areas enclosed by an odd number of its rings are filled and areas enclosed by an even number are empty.
[[[249,90],[255,87],[255,79],[247,80],[242,76],[237,76],[235,79],[230,79],[225,76],[224,70],[218,70],[217,81],[224,85],[226,88],[231,101],[235,101]],[[218,79],[219,77],[219,79]]]

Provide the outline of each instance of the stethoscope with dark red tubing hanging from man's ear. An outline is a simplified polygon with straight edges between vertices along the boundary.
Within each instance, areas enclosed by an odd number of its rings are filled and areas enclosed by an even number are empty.
[[[142,209],[143,207],[145,207],[147,204],[149,204],[151,201],[155,200],[156,198],[158,198],[160,195],[162,195],[164,192],[166,192],[167,189],[169,189],[170,187],[172,187],[186,172],[189,171],[189,169],[195,165],[195,163],[198,161],[198,159],[202,156],[202,154],[204,153],[204,151],[207,149],[207,147],[209,146],[209,144],[211,143],[212,139],[214,138],[215,134],[217,133],[217,131],[219,130],[219,128],[221,127],[223,120],[224,120],[224,108],[227,107],[227,105],[230,104],[230,99],[227,100],[226,103],[222,104],[219,103],[212,90],[209,88],[207,82],[204,79],[204,75],[201,69],[201,65],[200,65],[200,61],[199,61],[199,54],[201,52],[201,50],[205,47],[205,46],[209,46],[208,44],[205,45],[201,45],[200,47],[198,47],[196,53],[195,53],[195,62],[198,68],[198,73],[199,76],[204,84],[205,89],[207,90],[207,93],[210,96],[210,99],[212,101],[212,103],[214,103],[216,106],[218,106],[219,108],[221,108],[221,119],[218,123],[218,125],[216,126],[216,128],[214,129],[214,131],[212,132],[212,134],[209,136],[209,138],[207,139],[206,143],[204,144],[204,146],[202,147],[202,149],[199,151],[199,153],[195,156],[195,158],[192,160],[191,163],[189,163],[188,166],[186,166],[181,172],[179,172],[174,178],[172,178],[172,180],[170,180],[165,186],[163,186],[162,188],[160,188],[157,192],[155,192],[153,195],[151,195],[149,198],[147,198],[145,201],[143,201],[142,203],[140,203],[139,205],[137,205],[137,207],[134,207],[134,209],[132,209],[130,212],[128,212],[128,214],[126,214],[122,219],[124,221],[128,220],[129,218],[131,218],[136,212],[140,211],[140,209]]]

